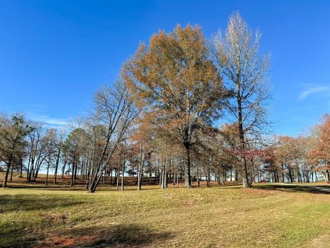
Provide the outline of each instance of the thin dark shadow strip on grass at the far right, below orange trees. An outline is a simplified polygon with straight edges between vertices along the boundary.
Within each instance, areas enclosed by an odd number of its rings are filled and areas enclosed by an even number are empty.
[[[283,192],[306,192],[311,194],[330,194],[330,185],[289,185],[289,184],[272,184],[272,185],[254,185],[256,189],[279,190]]]

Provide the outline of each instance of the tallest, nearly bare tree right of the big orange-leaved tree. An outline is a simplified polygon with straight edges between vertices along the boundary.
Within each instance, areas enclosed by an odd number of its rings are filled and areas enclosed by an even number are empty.
[[[218,32],[213,39],[214,56],[223,75],[225,86],[235,92],[228,110],[239,123],[243,187],[251,187],[245,158],[246,136],[257,134],[267,123],[266,103],[270,99],[267,69],[270,55],[259,56],[261,34],[248,29],[239,12],[229,19],[225,33]]]

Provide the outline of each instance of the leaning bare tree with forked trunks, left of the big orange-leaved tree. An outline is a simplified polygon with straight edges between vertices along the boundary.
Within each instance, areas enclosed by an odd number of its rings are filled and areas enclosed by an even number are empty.
[[[94,193],[113,153],[124,141],[125,133],[138,111],[131,101],[131,96],[122,81],[115,83],[113,89],[102,87],[95,96],[96,110],[94,120],[96,126],[104,127],[104,133],[94,136],[100,154],[94,152],[89,193]],[[96,151],[96,149],[94,149]]]

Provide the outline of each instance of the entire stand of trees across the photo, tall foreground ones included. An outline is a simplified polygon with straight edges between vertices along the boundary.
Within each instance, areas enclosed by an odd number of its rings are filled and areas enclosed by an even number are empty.
[[[211,178],[241,180],[243,187],[267,176],[308,181],[316,168],[329,165],[326,146],[318,143],[327,134],[320,125],[309,138],[265,138],[270,56],[259,54],[259,39],[238,12],[210,41],[198,26],[177,25],[142,43],[123,64],[120,80],[96,92],[94,110],[67,133],[23,116],[1,116],[3,187],[10,172],[36,180],[42,166],[46,184],[52,168],[54,183],[61,170],[62,177],[71,175],[71,185],[85,180],[91,193],[100,181],[112,181],[113,172],[117,188],[121,175],[122,189],[125,173],[137,176],[138,189],[145,175],[162,188],[181,178],[186,187],[200,178],[207,185]],[[309,149],[292,145],[300,141]]]

